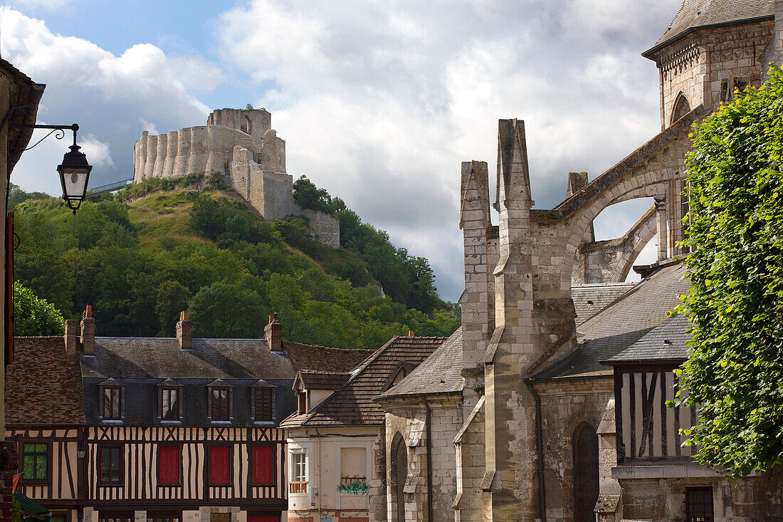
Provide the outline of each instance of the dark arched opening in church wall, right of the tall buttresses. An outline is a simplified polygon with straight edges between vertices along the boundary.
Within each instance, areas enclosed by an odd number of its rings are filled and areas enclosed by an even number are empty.
[[[595,522],[598,499],[598,436],[593,426],[576,427],[574,451],[574,522]]]

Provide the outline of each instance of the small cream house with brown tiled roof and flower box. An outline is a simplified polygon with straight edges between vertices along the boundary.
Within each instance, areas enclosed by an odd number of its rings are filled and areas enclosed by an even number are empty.
[[[384,413],[373,397],[397,386],[443,341],[396,336],[363,359],[333,358],[297,373],[298,408],[281,423],[290,522],[385,520]]]

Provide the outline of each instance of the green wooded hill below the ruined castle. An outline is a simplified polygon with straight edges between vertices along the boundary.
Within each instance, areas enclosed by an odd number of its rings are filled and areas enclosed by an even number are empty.
[[[340,200],[327,198],[347,232],[334,249],[313,240],[304,218],[267,222],[233,192],[190,182],[207,188],[134,186],[86,201],[75,216],[14,188],[16,280],[66,318],[92,304],[98,335],[171,336],[180,310],[190,310],[198,337],[262,337],[277,312],[286,339],[345,348],[459,325],[427,260],[395,248]],[[145,194],[156,188],[175,190]]]

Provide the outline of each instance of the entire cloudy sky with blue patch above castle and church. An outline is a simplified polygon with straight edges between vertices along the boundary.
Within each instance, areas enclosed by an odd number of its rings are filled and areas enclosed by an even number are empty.
[[[680,0],[16,0],[0,53],[46,84],[39,122],[78,122],[91,185],[127,179],[143,130],[204,125],[213,108],[272,111],[287,170],[343,198],[463,288],[460,161],[495,175],[498,118],[525,120],[536,207],[659,132],[658,70],[640,53]],[[52,138],[13,182],[58,194]],[[490,183],[493,184],[493,183]],[[650,201],[616,205],[599,239]],[[611,212],[610,212],[611,210]],[[640,262],[650,262],[648,245]]]

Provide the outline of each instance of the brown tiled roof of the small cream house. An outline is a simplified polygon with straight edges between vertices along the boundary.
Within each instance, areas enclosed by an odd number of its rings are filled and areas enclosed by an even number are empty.
[[[446,340],[445,337],[395,336],[375,350],[351,378],[305,415],[291,415],[283,428],[311,426],[381,426],[384,411],[373,402],[400,361],[418,365]]]

